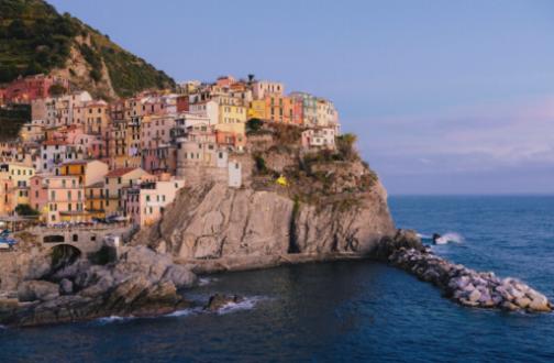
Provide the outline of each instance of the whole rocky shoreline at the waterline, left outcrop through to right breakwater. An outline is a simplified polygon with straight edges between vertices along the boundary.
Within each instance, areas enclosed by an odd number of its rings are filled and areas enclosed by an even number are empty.
[[[45,270],[42,277],[25,278],[12,294],[0,294],[0,324],[30,327],[107,316],[162,316],[192,307],[179,289],[195,286],[196,274],[361,258],[405,270],[437,286],[447,298],[466,307],[529,312],[553,309],[544,295],[528,285],[453,264],[422,244],[416,232],[398,230],[396,235],[385,237],[368,253],[287,254],[262,261],[237,257],[174,263],[169,254],[146,246],[128,246],[117,261],[107,265],[79,260],[55,273]],[[237,296],[214,296],[204,309],[213,311],[240,299]]]

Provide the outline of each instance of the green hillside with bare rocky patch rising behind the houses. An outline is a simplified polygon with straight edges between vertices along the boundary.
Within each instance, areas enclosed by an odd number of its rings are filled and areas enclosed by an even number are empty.
[[[0,82],[40,73],[65,76],[103,98],[175,86],[164,72],[43,0],[0,0]]]

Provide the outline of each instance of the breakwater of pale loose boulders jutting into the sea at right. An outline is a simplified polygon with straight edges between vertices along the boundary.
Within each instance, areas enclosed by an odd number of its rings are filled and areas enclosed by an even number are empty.
[[[516,278],[501,279],[491,272],[476,272],[453,264],[433,254],[429,248],[401,246],[389,254],[388,262],[432,283],[464,306],[530,312],[553,309],[544,295]]]

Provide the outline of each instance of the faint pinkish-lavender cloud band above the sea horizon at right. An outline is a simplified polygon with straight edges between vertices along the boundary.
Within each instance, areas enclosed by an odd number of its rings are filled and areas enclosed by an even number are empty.
[[[366,124],[367,138],[361,135],[364,155],[370,161],[378,155],[412,173],[424,172],[422,164],[456,172],[554,165],[554,96]]]

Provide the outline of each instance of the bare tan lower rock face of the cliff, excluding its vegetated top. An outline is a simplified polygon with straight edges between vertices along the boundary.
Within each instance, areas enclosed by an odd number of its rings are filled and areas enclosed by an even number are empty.
[[[380,183],[356,198],[359,202],[352,208],[322,207],[278,191],[207,184],[184,190],[162,221],[142,231],[134,243],[187,263],[366,254],[383,237],[394,235],[395,226]]]

